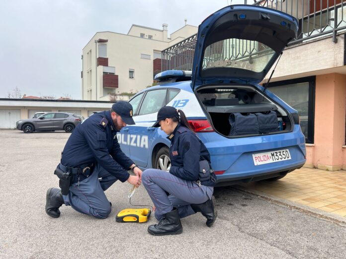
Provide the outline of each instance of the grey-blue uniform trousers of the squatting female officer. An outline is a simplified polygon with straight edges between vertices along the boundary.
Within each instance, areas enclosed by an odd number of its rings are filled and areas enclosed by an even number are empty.
[[[145,170],[142,182],[156,207],[155,217],[158,220],[173,207],[178,208],[180,218],[194,214],[190,204],[199,204],[211,199],[214,191],[211,186],[202,185],[199,188],[193,181],[183,180],[157,169]]]

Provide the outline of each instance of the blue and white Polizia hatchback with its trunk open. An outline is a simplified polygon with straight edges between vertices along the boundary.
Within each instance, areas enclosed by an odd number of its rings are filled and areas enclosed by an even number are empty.
[[[198,29],[193,71],[169,70],[136,94],[136,125],[117,134],[142,169],[170,169],[170,141],[152,128],[165,105],[184,111],[211,155],[218,185],[277,180],[305,163],[296,110],[259,82],[297,33],[297,20],[253,5],[225,7]],[[255,50],[255,51],[254,51]]]

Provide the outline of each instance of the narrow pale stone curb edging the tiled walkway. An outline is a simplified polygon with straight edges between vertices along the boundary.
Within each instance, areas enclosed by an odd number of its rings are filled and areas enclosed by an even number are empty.
[[[269,202],[275,203],[277,205],[281,205],[281,206],[285,206],[288,207],[290,209],[295,209],[298,211],[301,211],[305,214],[309,214],[313,217],[319,218],[319,219],[323,219],[326,221],[330,221],[333,223],[336,223],[340,226],[346,227],[346,217],[343,216],[339,216],[336,214],[332,214],[317,208],[313,208],[313,207],[309,207],[303,204],[299,204],[297,202],[291,201],[291,200],[287,200],[287,199],[283,199],[283,198],[279,198],[270,194],[265,194],[259,191],[249,191],[249,190],[244,190],[242,189],[241,186],[232,186],[235,191],[239,192],[239,193],[243,193],[243,194],[250,194],[250,195],[256,195],[259,198],[268,200]]]

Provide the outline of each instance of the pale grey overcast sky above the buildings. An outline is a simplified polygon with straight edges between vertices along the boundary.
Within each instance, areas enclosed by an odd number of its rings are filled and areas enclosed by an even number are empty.
[[[81,99],[82,49],[98,31],[127,34],[132,24],[168,34],[231,0],[0,0],[0,98],[21,94]],[[232,3],[244,3],[233,0]],[[248,1],[249,4],[252,0]]]

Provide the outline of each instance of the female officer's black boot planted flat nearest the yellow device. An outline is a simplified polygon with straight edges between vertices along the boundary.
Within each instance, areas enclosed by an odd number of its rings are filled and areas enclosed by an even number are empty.
[[[178,235],[182,233],[182,226],[177,208],[166,213],[159,224],[148,227],[148,232],[154,236]]]

